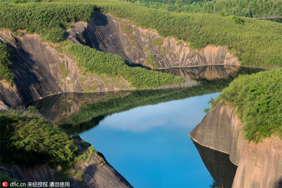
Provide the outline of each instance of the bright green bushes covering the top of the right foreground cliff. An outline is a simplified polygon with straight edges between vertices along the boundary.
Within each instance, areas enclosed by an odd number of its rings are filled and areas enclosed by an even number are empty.
[[[260,142],[272,134],[282,139],[282,69],[239,76],[217,97],[237,107],[244,137]]]

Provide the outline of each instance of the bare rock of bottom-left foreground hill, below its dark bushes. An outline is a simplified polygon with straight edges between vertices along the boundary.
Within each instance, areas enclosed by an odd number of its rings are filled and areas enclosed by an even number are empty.
[[[87,149],[90,144],[81,145],[81,138],[76,138],[76,145],[80,151]],[[23,167],[12,165],[10,168],[0,165],[1,173],[7,174],[11,178],[27,182],[60,182],[54,175],[55,171],[47,164],[35,165],[31,167]],[[82,179],[78,179],[72,172],[81,173]],[[103,154],[97,152],[88,162],[79,162],[74,165],[70,173],[67,175],[72,182],[70,187],[97,187],[97,188],[126,188],[132,187],[130,183],[120,175],[105,159]],[[69,181],[69,180],[64,180]],[[10,183],[10,182],[9,182]]]

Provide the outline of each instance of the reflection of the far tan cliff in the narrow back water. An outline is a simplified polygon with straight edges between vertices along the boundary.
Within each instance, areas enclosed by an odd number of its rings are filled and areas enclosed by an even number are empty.
[[[182,76],[183,78],[200,77],[205,79],[225,78],[238,72],[240,66],[236,65],[206,65],[197,67],[173,67],[158,69],[160,72]]]

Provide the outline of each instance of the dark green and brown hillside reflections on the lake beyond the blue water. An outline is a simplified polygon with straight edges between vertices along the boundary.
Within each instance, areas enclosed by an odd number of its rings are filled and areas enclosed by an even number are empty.
[[[45,118],[52,123],[57,123],[68,132],[81,133],[98,125],[107,115],[127,111],[135,107],[220,92],[239,74],[261,71],[259,69],[230,65],[197,67],[197,74],[193,72],[194,69],[181,68],[174,72],[172,70],[176,70],[175,68],[167,70],[175,75],[199,76],[199,78],[194,79],[199,81],[200,84],[189,88],[96,93],[70,92],[44,97],[29,103],[27,106],[35,106]],[[208,80],[201,78],[204,77],[203,75],[208,75],[209,78],[211,78],[211,75],[226,77]]]

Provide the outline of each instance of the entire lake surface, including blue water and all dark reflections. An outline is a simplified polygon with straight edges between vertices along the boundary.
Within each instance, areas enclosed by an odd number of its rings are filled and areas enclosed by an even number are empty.
[[[62,93],[29,105],[65,130],[79,133],[133,187],[229,187],[236,165],[227,154],[196,145],[188,135],[205,116],[210,97],[217,96],[239,73],[259,71],[224,69],[196,68],[192,77],[198,77],[201,84],[191,88]],[[166,71],[190,74],[188,69]],[[220,77],[220,72],[227,77],[206,80],[201,76]]]

